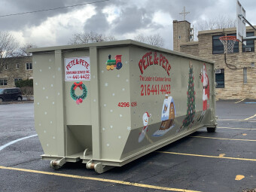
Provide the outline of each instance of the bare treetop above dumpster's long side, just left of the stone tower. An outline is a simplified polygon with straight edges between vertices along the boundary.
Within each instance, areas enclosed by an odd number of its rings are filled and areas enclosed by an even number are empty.
[[[145,44],[151,44],[157,47],[163,47],[164,45],[163,38],[159,34],[145,36],[141,33],[139,35],[136,35],[134,40],[140,41]]]

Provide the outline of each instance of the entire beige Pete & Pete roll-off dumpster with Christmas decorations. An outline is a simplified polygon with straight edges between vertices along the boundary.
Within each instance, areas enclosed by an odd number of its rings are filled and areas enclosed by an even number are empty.
[[[81,162],[102,173],[215,131],[213,62],[132,40],[30,52],[35,130],[53,169]]]

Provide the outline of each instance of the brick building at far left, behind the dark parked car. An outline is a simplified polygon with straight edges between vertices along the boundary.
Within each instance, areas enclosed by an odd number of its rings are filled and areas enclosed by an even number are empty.
[[[33,78],[32,56],[2,59],[0,88],[15,87],[15,81]]]

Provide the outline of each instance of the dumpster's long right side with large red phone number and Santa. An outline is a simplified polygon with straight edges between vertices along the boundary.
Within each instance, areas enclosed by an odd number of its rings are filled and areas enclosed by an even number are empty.
[[[131,108],[132,128],[122,160],[157,149],[211,123],[215,99],[211,63],[138,47],[131,48],[130,58],[131,102],[136,106]],[[203,69],[205,76],[208,74],[207,94]]]

